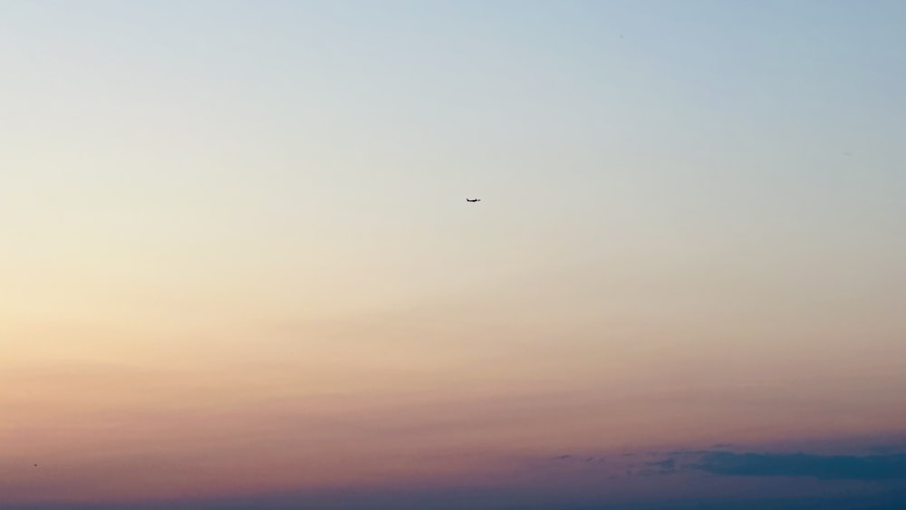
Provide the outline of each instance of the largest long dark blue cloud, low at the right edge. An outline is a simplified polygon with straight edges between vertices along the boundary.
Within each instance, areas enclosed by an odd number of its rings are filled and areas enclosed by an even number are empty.
[[[821,456],[709,452],[690,467],[724,476],[808,476],[819,480],[906,479],[906,454]]]

